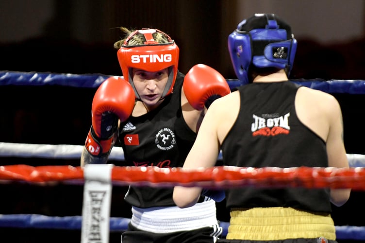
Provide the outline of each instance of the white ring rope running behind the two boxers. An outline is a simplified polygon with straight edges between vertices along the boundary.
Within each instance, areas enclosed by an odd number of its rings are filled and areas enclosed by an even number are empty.
[[[79,159],[82,151],[83,145],[0,142],[0,157]],[[221,158],[220,153],[218,159]],[[350,167],[365,167],[365,155],[347,154],[347,158]],[[121,147],[113,147],[109,160],[123,161],[123,149]]]

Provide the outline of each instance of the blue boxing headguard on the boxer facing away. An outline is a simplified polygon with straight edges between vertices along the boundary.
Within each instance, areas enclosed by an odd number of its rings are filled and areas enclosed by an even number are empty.
[[[274,14],[255,14],[244,19],[228,36],[228,49],[238,79],[249,83],[249,69],[284,69],[289,76],[297,40],[290,26]]]

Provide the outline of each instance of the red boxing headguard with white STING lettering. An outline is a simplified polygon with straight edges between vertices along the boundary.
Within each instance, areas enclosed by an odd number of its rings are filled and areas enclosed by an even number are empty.
[[[155,41],[152,34],[156,32],[165,35],[169,42],[158,43]],[[146,41],[144,45],[128,46],[128,41],[131,37],[138,33],[145,36]],[[171,94],[178,72],[179,47],[170,36],[157,29],[136,30],[124,41],[117,52],[117,56],[124,79],[131,83],[136,99],[139,100],[140,97],[133,84],[133,68],[150,72],[168,68],[168,81],[162,97]]]

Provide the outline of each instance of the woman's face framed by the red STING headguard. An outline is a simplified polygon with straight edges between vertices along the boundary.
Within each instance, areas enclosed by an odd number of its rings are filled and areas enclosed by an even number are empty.
[[[168,70],[149,72],[133,69],[133,84],[141,101],[148,106],[158,103],[168,80]]]

